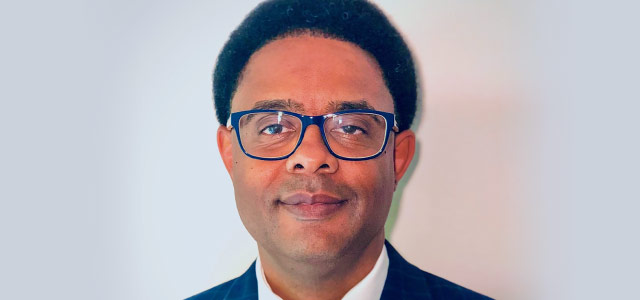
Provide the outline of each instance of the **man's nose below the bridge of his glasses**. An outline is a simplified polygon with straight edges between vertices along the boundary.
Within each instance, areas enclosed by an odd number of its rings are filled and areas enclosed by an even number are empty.
[[[338,170],[338,159],[327,149],[318,126],[307,127],[300,146],[287,158],[286,168],[290,173],[302,174],[330,174]]]

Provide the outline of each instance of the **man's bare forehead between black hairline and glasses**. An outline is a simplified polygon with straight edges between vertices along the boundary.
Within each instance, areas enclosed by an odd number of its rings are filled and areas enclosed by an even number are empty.
[[[278,39],[256,51],[240,78],[231,111],[273,100],[314,115],[345,102],[393,112],[375,59],[352,43],[310,35]]]

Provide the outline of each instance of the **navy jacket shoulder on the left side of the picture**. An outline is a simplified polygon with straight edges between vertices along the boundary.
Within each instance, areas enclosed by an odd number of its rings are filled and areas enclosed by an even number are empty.
[[[240,277],[214,286],[186,300],[248,300],[258,298],[255,262]]]

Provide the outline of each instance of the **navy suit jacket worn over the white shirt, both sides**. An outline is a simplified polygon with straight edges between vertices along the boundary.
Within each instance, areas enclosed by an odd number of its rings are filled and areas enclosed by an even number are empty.
[[[388,241],[389,272],[380,299],[491,299],[438,276],[424,272],[407,262]],[[256,300],[258,282],[256,263],[242,276],[197,294],[189,300]]]

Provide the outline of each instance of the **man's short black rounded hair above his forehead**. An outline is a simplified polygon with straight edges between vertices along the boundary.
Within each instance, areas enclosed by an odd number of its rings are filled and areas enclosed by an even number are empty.
[[[366,0],[269,0],[259,4],[233,31],[213,72],[213,95],[220,124],[251,55],[281,37],[312,32],[353,43],[375,58],[393,97],[398,128],[411,126],[417,83],[411,52],[384,13]]]

